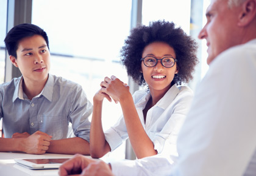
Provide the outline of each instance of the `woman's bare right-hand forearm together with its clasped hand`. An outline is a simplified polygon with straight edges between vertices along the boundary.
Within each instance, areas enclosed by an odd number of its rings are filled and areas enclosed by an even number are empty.
[[[115,76],[112,76],[111,80],[106,78],[105,82],[107,83],[105,84],[106,88],[102,91],[121,104],[127,133],[137,158],[156,155],[157,151],[154,149],[154,144],[146,134],[138,117],[129,87],[124,85],[118,78],[115,78]]]

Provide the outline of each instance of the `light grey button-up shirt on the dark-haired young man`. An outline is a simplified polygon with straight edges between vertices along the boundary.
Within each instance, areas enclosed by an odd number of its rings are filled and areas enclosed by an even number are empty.
[[[76,137],[90,141],[88,117],[92,105],[79,84],[49,74],[42,92],[29,100],[22,83],[21,76],[0,85],[0,118],[5,137],[40,130],[52,135],[52,140],[59,140],[68,137],[71,123]]]

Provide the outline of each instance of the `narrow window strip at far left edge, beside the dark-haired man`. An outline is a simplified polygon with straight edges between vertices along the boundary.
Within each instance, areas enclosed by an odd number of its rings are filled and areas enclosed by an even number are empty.
[[[5,44],[7,21],[7,0],[0,0],[0,84],[4,83],[5,75]]]

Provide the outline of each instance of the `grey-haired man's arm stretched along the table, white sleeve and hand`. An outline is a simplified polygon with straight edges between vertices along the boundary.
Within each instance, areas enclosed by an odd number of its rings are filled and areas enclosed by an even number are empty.
[[[141,160],[116,161],[110,165],[101,160],[75,155],[60,166],[59,175],[170,175],[175,160],[176,157],[155,155]]]

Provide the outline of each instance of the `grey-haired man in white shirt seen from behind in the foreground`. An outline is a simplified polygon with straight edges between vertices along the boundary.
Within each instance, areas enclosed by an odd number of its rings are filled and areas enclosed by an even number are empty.
[[[212,0],[206,16],[199,38],[210,69],[180,130],[178,160],[158,155],[107,167],[76,155],[60,175],[255,175],[256,0]]]

